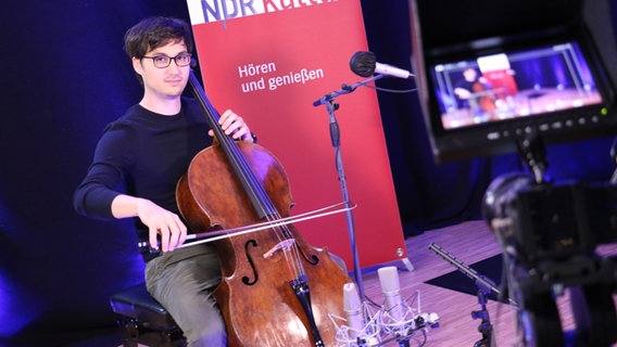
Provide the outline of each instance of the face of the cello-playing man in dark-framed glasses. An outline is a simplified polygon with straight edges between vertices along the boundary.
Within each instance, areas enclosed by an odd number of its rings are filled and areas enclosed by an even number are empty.
[[[187,47],[184,40],[169,41],[167,44],[153,49],[146,56],[175,57],[186,54]],[[158,99],[175,99],[179,97],[187,86],[190,65],[178,66],[172,59],[169,66],[156,67],[152,59],[133,57],[133,67],[141,75],[146,95]]]

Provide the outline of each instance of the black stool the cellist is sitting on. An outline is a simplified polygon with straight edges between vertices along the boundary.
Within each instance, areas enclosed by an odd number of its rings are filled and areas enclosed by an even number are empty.
[[[110,304],[121,316],[117,324],[124,347],[185,347],[182,331],[143,283],[114,294]]]

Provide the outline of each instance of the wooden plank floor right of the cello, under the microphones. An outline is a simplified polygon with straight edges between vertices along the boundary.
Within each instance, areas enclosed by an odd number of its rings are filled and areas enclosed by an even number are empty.
[[[415,269],[413,271],[405,270],[402,261],[385,266],[396,266],[400,269],[399,278],[403,297],[412,297],[419,293],[421,311],[439,314],[440,326],[428,330],[426,346],[474,346],[482,337],[478,332],[480,320],[474,320],[471,317],[473,311],[480,309],[478,297],[424,283],[441,274],[456,271],[454,266],[429,250],[428,245],[436,243],[459,261],[469,266],[473,262],[501,254],[501,248],[496,244],[493,233],[483,221],[469,221],[454,227],[427,231],[424,234],[410,237],[405,242],[408,258]],[[600,248],[600,253],[615,255],[617,247],[604,246]],[[499,280],[493,279],[493,281]],[[377,268],[364,272],[363,287],[368,298],[378,304],[383,303]],[[564,329],[574,330],[575,324],[569,310],[568,296],[558,298],[557,305]],[[495,344],[492,347],[517,346],[516,310],[513,306],[489,300],[488,310],[495,334]],[[393,340],[385,346],[399,346],[399,343]],[[418,345],[414,345],[411,340],[410,346]]]

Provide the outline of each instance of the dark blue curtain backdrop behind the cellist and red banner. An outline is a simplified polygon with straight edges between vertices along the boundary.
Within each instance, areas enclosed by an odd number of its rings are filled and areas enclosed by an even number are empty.
[[[407,1],[362,5],[379,62],[411,69]],[[188,21],[188,13],[184,0],[9,1],[0,8],[0,345],[66,346],[115,331],[109,297],[142,281],[130,223],[79,217],[71,202],[103,127],[141,97],[123,35],[144,16]],[[398,79],[379,85],[415,87]],[[514,155],[438,166],[417,94],[379,92],[379,105],[406,235],[480,218],[490,181],[521,169]],[[612,141],[550,147],[549,174],[608,179]]]

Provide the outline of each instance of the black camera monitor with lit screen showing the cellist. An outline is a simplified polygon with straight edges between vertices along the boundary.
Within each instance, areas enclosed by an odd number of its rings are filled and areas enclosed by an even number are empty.
[[[530,137],[550,145],[617,133],[609,21],[590,30],[581,11],[568,11],[562,26],[538,20],[518,30],[506,16],[462,34],[454,18],[453,28],[435,24],[428,9],[439,7],[411,5],[413,67],[437,163],[516,152]]]

